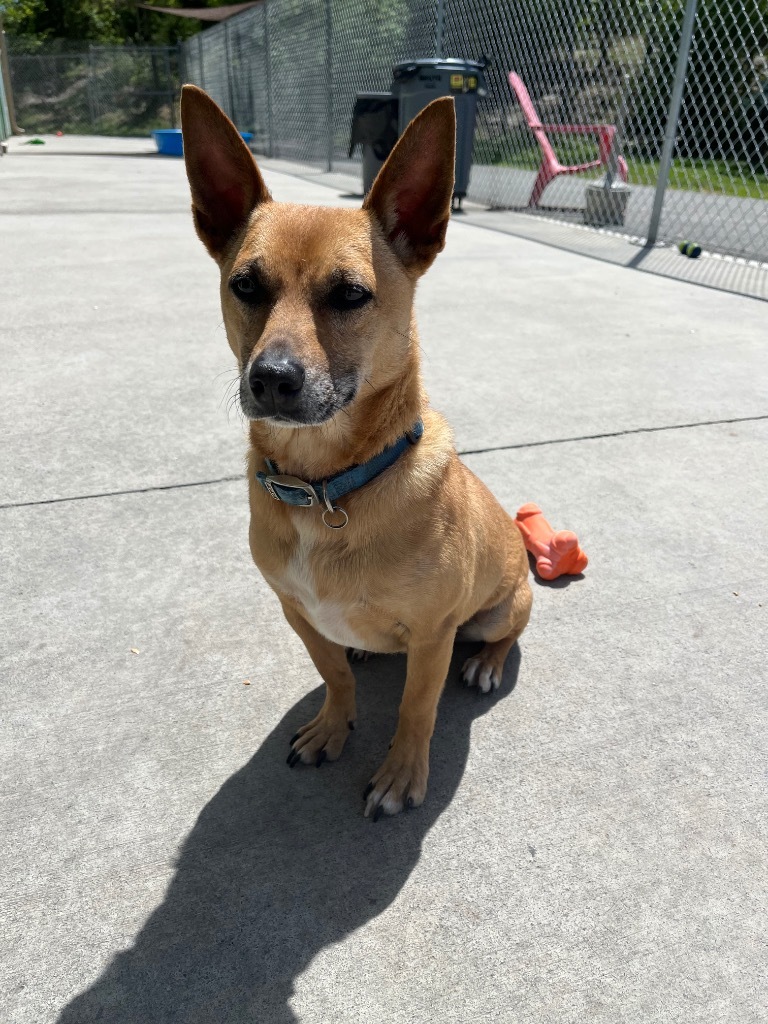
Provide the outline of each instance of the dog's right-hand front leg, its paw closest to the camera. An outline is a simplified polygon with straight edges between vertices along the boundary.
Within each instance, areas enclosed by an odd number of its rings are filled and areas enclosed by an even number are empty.
[[[364,794],[366,817],[373,814],[374,821],[382,813],[397,814],[403,807],[418,807],[424,801],[429,741],[455,637],[455,625],[441,627],[428,639],[412,635],[397,729],[384,764]]]

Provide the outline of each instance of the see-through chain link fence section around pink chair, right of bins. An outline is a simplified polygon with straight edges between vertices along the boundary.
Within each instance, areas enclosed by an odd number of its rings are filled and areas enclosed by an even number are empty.
[[[493,53],[489,95],[479,109],[472,196],[525,207],[541,154],[507,72],[518,72],[543,122],[615,124],[626,109],[623,152],[630,199],[624,229],[649,233],[685,3],[547,4],[453,0],[446,47]],[[684,72],[669,187],[655,232],[768,260],[768,4],[699,0]],[[561,163],[598,157],[596,138],[554,133]],[[603,168],[593,171],[600,176]],[[542,208],[584,206],[585,175],[556,178]]]

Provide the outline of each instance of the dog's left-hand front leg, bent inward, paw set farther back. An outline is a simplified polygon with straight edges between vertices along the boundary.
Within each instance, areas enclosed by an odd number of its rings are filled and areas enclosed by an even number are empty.
[[[327,640],[290,604],[283,601],[283,611],[296,630],[314,667],[326,684],[326,700],[319,714],[302,726],[291,740],[288,764],[293,768],[299,761],[319,767],[324,761],[336,761],[354,728],[354,676],[346,651]]]

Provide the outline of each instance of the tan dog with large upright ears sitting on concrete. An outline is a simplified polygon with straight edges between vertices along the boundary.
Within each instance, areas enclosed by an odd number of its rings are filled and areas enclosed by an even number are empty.
[[[485,641],[464,678],[488,692],[531,600],[520,532],[459,461],[419,370],[414,292],[444,244],[453,100],[413,121],[361,210],[272,202],[232,124],[194,86],[181,118],[195,223],[221,269],[251,420],[251,553],[327,687],[289,764],[342,752],[355,720],[345,647],[406,651],[397,729],[365,794],[366,815],[396,814],[427,791],[457,632]],[[368,482],[337,480],[379,469],[377,456],[389,464]]]

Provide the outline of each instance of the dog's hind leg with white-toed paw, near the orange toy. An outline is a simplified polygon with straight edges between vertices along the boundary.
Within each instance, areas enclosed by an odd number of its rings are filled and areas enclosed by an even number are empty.
[[[485,641],[482,650],[464,663],[467,686],[477,686],[482,693],[499,689],[507,655],[527,626],[531,600],[530,586],[522,580],[499,604],[478,611],[461,628],[462,640]]]

